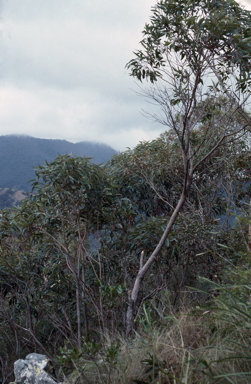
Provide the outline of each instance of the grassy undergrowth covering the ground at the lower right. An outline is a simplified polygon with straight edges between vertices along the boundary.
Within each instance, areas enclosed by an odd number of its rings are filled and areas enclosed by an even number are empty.
[[[81,354],[62,348],[57,359],[64,380],[83,384],[250,383],[250,270],[231,269],[229,279],[228,285],[214,285],[217,298],[205,306],[181,307],[175,314],[167,314],[170,305],[161,312],[155,301],[148,308],[143,306],[131,340],[107,331],[99,343],[83,339]]]

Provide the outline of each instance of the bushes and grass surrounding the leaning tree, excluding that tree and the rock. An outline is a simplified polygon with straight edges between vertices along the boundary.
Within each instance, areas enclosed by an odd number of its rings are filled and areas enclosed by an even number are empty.
[[[158,241],[181,185],[176,148],[170,168],[158,162],[166,145],[142,143],[106,166],[59,156],[1,212],[1,384],[31,352],[70,384],[250,381],[250,163],[237,156],[194,183],[125,335],[140,253]],[[143,161],[158,169],[154,189]]]

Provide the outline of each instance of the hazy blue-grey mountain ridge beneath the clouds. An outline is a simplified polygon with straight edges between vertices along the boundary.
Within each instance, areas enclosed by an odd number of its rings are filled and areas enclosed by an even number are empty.
[[[0,136],[0,189],[30,191],[27,183],[35,178],[33,167],[53,161],[57,154],[92,157],[96,164],[106,162],[117,153],[115,149],[100,143],[83,141],[37,139],[30,136]]]

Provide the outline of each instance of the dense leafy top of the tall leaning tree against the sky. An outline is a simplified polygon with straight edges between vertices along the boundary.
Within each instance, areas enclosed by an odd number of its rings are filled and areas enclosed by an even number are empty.
[[[237,88],[247,91],[250,86],[251,22],[250,11],[233,0],[183,1],[160,0],[152,8],[151,22],[145,25],[142,50],[135,52],[127,68],[131,75],[154,82],[162,77],[167,66],[166,53],[179,54],[196,68],[204,57],[215,59],[217,72],[225,83],[238,68]],[[175,76],[185,89],[187,78],[176,68]],[[198,79],[202,82],[202,78]],[[177,99],[178,102],[179,99]],[[174,101],[176,103],[176,101]]]

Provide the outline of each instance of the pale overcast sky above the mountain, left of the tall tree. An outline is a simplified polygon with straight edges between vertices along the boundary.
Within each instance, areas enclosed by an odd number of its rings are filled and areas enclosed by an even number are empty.
[[[0,0],[0,135],[123,151],[164,127],[125,70],[155,0]],[[251,0],[241,4],[251,10]]]

